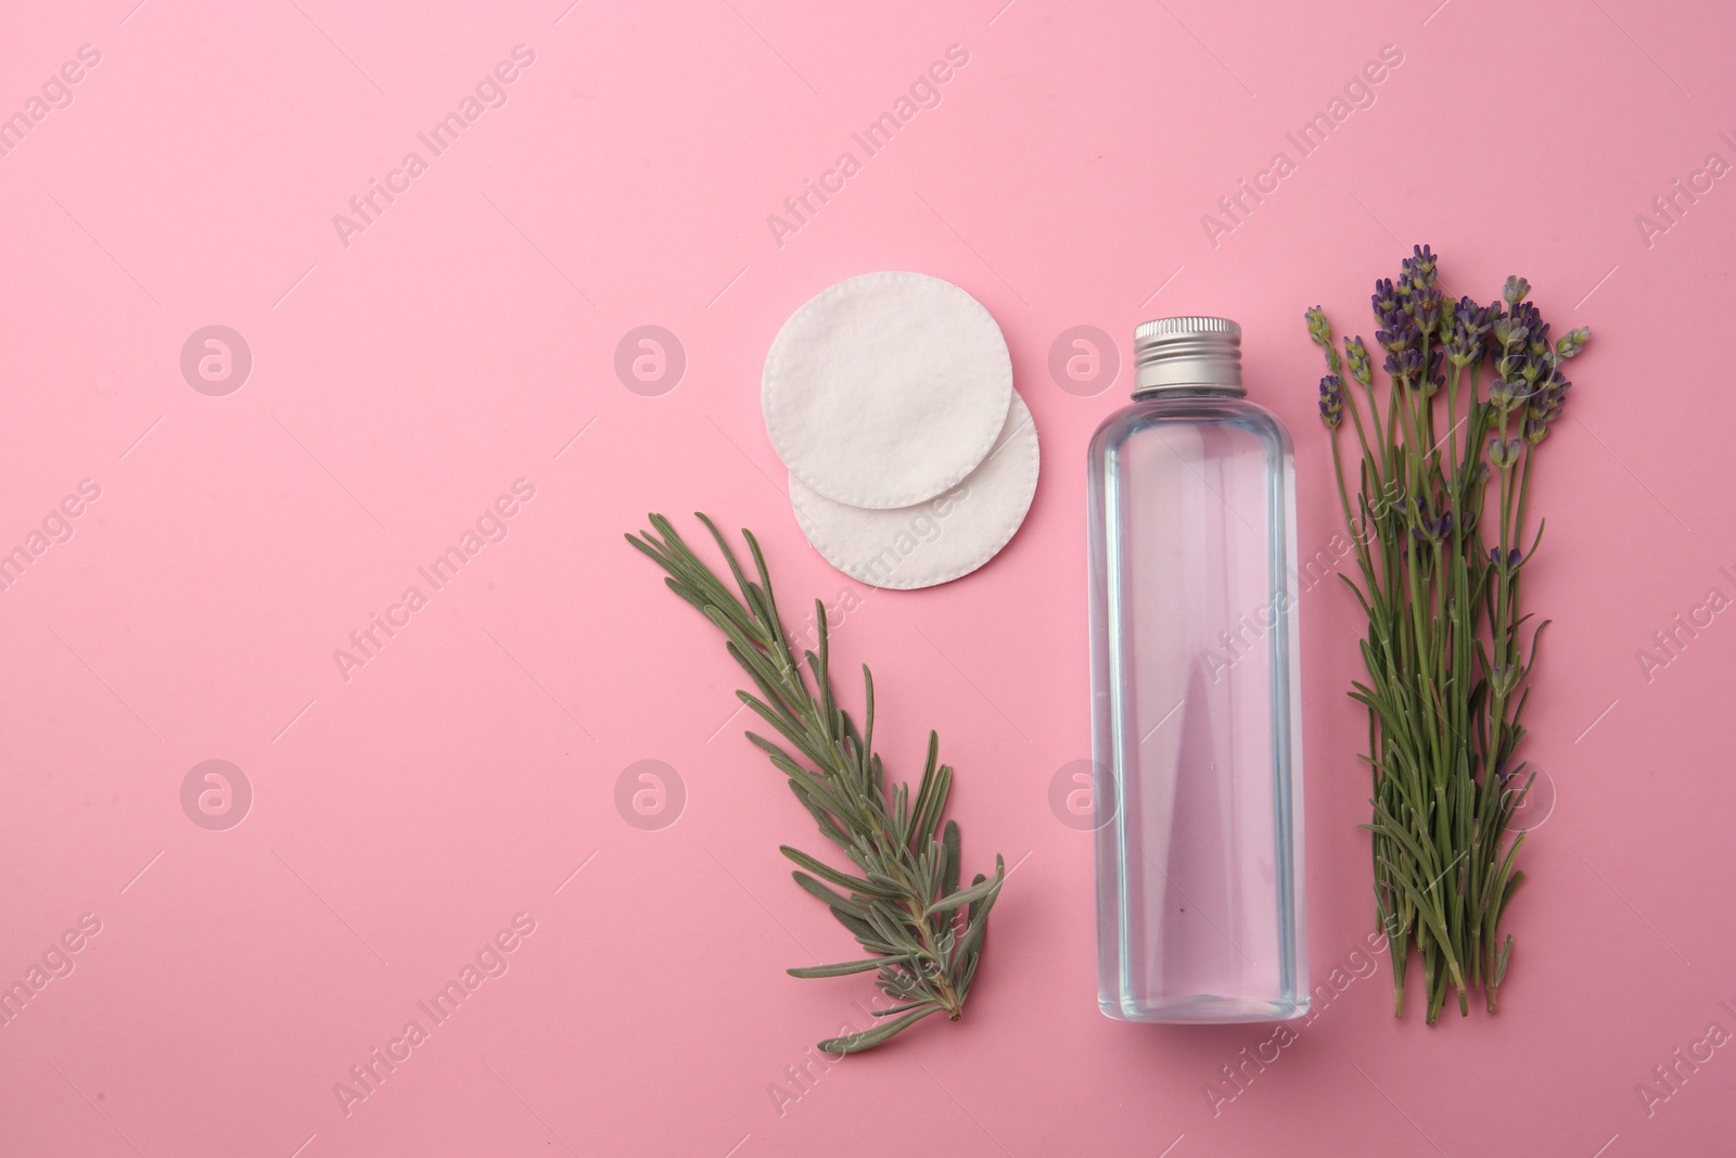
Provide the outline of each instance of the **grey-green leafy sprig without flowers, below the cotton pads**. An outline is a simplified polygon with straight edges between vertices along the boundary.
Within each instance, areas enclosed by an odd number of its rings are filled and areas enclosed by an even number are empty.
[[[724,632],[729,655],[759,689],[759,694],[738,691],[736,696],[795,755],[764,736],[748,733],[748,740],[790,778],[790,790],[819,825],[819,833],[838,845],[859,873],[781,845],[797,865],[795,884],[823,901],[868,951],[863,960],[788,972],[793,977],[875,972],[875,983],[892,998],[891,1009],[875,1010],[875,1017],[885,1017],[878,1026],[828,1038],[819,1049],[828,1054],[873,1049],[939,1012],[958,1021],[1007,870],[995,856],[993,878],[977,873],[970,885],[958,887],[958,821],[941,825],[953,781],[953,769],[939,762],[941,738],[929,733],[929,757],[915,799],[910,785],[887,786],[873,752],[873,675],[863,665],[863,727],[858,731],[832,688],[825,604],[814,601],[819,639],[818,651],[802,653],[804,674],[778,618],[759,542],[741,531],[759,573],[753,582],[717,526],[703,514],[698,519],[724,552],[740,597],[660,514],[649,516],[653,531],[628,535],[627,542],[651,556],[668,573],[663,580],[668,589]]]

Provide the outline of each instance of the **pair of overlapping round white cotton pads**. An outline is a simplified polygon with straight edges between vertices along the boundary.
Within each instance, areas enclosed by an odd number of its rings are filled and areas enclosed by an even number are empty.
[[[976,571],[1036,493],[1000,326],[939,278],[871,273],[809,300],[771,344],[760,403],[807,542],[875,587]]]

